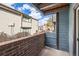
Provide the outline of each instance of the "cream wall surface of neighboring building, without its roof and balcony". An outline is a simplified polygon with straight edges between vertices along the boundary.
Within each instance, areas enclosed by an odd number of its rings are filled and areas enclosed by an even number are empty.
[[[26,18],[23,19],[27,20]],[[36,30],[38,30],[37,22],[37,20],[32,19],[32,23],[28,23],[28,21],[23,22],[22,26],[32,27],[30,33],[33,34],[36,32]],[[11,27],[9,27],[9,25],[12,25],[13,23],[15,24],[13,34],[16,34],[21,31],[21,16],[0,9],[0,32],[5,32],[8,35],[12,35]]]

